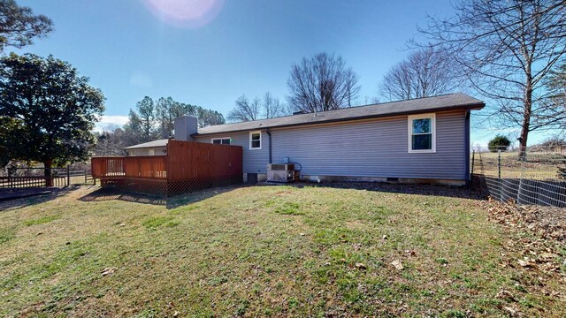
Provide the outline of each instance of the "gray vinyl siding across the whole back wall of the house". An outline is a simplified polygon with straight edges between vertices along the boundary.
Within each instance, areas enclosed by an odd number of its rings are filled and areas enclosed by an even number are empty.
[[[386,117],[347,124],[272,129],[272,160],[288,156],[301,163],[302,175],[466,179],[465,111],[436,113],[436,153],[409,153],[408,117]],[[243,171],[262,172],[269,163],[269,136],[262,149],[249,149],[249,132],[196,136],[231,137],[243,147]]]

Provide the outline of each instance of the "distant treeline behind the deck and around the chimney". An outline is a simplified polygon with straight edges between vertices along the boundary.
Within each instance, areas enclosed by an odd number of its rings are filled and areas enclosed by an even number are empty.
[[[151,140],[167,139],[173,135],[173,122],[180,116],[196,117],[199,127],[225,124],[222,114],[201,106],[177,102],[172,97],[157,101],[145,96],[130,109],[128,122],[112,132],[97,133],[95,155],[125,155],[124,148]]]

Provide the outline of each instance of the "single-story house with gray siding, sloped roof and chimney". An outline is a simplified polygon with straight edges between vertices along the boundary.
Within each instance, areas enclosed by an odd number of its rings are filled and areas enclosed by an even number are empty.
[[[238,145],[243,173],[264,177],[268,163],[299,163],[301,178],[463,185],[470,179],[470,110],[464,94],[197,128],[175,119],[175,140]],[[126,148],[157,155],[167,140]]]

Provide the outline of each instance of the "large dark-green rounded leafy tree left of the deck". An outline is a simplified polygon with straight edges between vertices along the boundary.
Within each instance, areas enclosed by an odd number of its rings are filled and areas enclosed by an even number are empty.
[[[52,165],[86,160],[104,97],[55,57],[12,53],[0,59],[0,148],[12,160]],[[50,170],[46,169],[46,177]]]

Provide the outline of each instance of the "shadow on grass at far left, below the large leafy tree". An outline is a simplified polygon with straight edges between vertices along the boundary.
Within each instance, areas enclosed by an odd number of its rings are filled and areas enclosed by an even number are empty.
[[[8,208],[25,208],[55,200],[76,190],[77,186],[65,188],[19,188],[0,190],[0,211]]]

